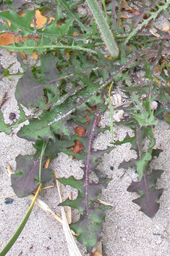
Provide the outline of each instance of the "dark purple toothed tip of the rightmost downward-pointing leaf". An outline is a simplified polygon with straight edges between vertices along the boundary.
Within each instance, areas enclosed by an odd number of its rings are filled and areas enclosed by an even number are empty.
[[[129,192],[136,192],[140,197],[132,200],[141,208],[140,211],[144,212],[148,217],[154,217],[159,209],[158,200],[163,193],[163,189],[156,189],[157,179],[161,177],[163,170],[153,169],[151,174],[148,174],[148,169],[145,169],[142,180],[140,182],[132,181],[131,185],[127,188]]]

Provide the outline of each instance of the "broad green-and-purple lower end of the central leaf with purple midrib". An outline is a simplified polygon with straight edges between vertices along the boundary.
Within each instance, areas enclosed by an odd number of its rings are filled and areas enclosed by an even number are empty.
[[[102,222],[106,216],[106,211],[111,208],[96,203],[97,197],[101,190],[107,187],[111,179],[106,178],[98,183],[88,183],[88,192],[85,192],[85,177],[82,180],[76,180],[75,177],[58,180],[64,185],[71,185],[78,191],[77,199],[67,199],[59,206],[67,205],[82,213],[80,220],[77,223],[72,223],[70,228],[75,233],[79,233],[79,236],[76,236],[77,240],[87,247],[88,252],[91,252],[95,243],[101,239]]]

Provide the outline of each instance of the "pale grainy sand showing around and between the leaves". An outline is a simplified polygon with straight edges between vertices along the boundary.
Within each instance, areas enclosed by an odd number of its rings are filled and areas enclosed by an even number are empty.
[[[17,73],[20,63],[17,62],[16,55],[9,55],[8,52],[1,50],[1,64],[4,68],[11,63],[15,63],[12,72]],[[7,101],[2,105],[1,110],[4,113],[5,121],[9,122],[9,113],[19,113],[17,102],[14,99],[14,90],[17,84],[17,78],[4,79],[1,82],[0,97],[7,91]],[[0,98],[1,100],[1,98]],[[109,124],[109,111],[106,111],[103,122]],[[114,127],[114,136],[120,140],[130,132],[124,127]],[[11,188],[10,179],[6,174],[7,163],[11,165],[12,171],[16,168],[15,157],[19,154],[25,155],[33,153],[33,145],[26,140],[20,139],[16,135],[15,129],[11,135],[0,133],[0,196],[11,195],[14,192]],[[165,121],[159,121],[154,130],[156,146],[163,150],[158,159],[155,159],[156,169],[163,168],[165,172],[158,181],[158,188],[164,188],[160,199],[160,209],[153,219],[145,216],[139,211],[132,199],[136,198],[135,193],[127,192],[127,187],[132,180],[136,179],[135,172],[132,169],[125,171],[118,169],[119,164],[127,161],[135,155],[135,151],[130,149],[130,144],[116,146],[113,151],[103,156],[101,170],[112,180],[106,190],[103,190],[101,199],[113,205],[113,208],[107,212],[106,221],[103,223],[102,244],[103,255],[105,256],[167,256],[170,255],[170,129]],[[109,131],[99,135],[94,143],[95,148],[106,148],[111,141]],[[59,175],[82,177],[80,169],[81,163],[72,160],[71,157],[60,153],[54,160],[53,167],[57,168]],[[114,167],[111,168],[111,167]],[[54,185],[54,188],[48,191],[42,191],[40,198],[45,201],[54,212],[59,212],[59,196],[56,190],[54,180],[48,185]],[[20,225],[27,209],[30,206],[30,199],[14,199],[12,204],[6,204],[4,199],[0,199],[0,249],[12,237],[18,225]],[[73,216],[74,217],[74,216]],[[78,244],[78,243],[77,243]],[[85,254],[85,247],[78,244],[82,255]],[[9,256],[65,256],[69,255],[67,243],[62,231],[62,227],[51,216],[47,215],[37,206],[22,231],[19,239],[7,254]]]

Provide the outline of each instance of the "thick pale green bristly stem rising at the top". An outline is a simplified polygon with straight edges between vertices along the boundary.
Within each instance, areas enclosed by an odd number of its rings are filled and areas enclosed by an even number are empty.
[[[118,57],[119,56],[119,48],[114,41],[114,36],[112,35],[109,25],[106,23],[105,17],[101,12],[101,9],[98,6],[96,0],[86,0],[93,16],[95,17],[95,21],[98,24],[98,28],[101,31],[101,36],[103,41],[106,44],[106,47],[111,55],[111,57]]]

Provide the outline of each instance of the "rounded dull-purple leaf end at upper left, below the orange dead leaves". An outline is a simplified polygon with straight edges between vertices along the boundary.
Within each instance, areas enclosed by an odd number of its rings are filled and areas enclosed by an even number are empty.
[[[15,91],[16,100],[27,108],[29,106],[39,106],[44,100],[43,88],[49,83],[51,87],[55,85],[59,71],[56,68],[57,58],[52,52],[41,56],[41,73],[32,72],[27,68],[25,75],[17,83]]]

